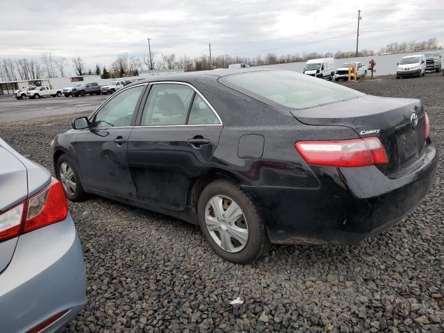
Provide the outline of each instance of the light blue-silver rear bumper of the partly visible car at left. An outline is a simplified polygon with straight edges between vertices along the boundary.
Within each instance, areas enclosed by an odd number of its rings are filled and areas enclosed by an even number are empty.
[[[0,274],[1,332],[27,332],[69,310],[42,332],[56,332],[86,303],[86,273],[71,216],[19,237],[12,260]]]

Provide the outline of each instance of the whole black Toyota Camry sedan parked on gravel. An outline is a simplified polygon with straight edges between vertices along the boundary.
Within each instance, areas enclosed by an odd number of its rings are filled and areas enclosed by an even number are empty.
[[[198,223],[251,262],[268,241],[354,244],[413,210],[438,152],[418,99],[292,71],[220,69],[128,85],[52,142],[68,198]]]

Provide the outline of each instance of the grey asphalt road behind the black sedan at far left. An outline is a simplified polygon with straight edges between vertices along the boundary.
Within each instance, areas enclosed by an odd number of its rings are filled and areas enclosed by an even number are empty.
[[[78,112],[92,112],[110,95],[85,97],[47,97],[19,101],[11,95],[0,96],[0,123],[22,121]]]

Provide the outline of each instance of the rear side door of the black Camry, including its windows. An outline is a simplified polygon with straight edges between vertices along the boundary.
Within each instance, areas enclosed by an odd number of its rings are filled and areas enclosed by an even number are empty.
[[[152,83],[137,124],[128,145],[134,198],[182,210],[219,142],[219,116],[187,83]]]

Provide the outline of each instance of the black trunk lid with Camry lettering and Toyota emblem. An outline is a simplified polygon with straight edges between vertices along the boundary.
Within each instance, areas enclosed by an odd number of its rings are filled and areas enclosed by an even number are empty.
[[[307,125],[347,126],[359,137],[379,137],[388,164],[378,168],[393,175],[413,164],[425,146],[425,114],[418,99],[363,96],[316,108],[292,110]]]

